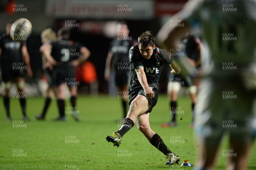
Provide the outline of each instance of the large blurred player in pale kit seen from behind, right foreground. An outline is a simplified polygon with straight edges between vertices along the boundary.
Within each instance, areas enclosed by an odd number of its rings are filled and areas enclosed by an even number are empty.
[[[225,133],[229,135],[228,170],[245,170],[256,135],[256,1],[194,0],[166,23],[157,42],[166,49],[201,22],[210,51],[206,72],[201,73],[195,106],[199,158],[195,170],[212,170]],[[223,155],[226,154],[222,151]]]

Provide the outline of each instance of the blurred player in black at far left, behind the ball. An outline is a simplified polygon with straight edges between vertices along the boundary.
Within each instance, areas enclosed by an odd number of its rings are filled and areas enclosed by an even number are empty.
[[[14,82],[17,86],[17,92],[13,92],[13,97],[19,98],[23,113],[23,120],[28,121],[26,115],[26,95],[24,93],[25,80],[23,72],[26,71],[29,77],[32,77],[30,67],[29,53],[26,42],[15,42],[10,37],[12,23],[7,23],[6,34],[0,37],[0,64],[2,79],[4,82],[3,104],[7,114],[7,121],[11,120],[10,115],[10,96],[9,92]],[[24,65],[25,63],[25,65]]]

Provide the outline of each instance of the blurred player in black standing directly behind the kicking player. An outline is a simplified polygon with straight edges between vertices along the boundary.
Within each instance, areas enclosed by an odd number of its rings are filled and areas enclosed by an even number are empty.
[[[118,23],[116,26],[117,37],[111,41],[105,66],[105,80],[109,81],[110,76],[115,75],[115,84],[118,97],[122,100],[123,118],[127,113],[128,82],[130,74],[129,49],[137,44],[137,41],[128,36],[129,29],[126,23]],[[112,67],[114,72],[110,73]],[[110,75],[111,74],[111,75]]]

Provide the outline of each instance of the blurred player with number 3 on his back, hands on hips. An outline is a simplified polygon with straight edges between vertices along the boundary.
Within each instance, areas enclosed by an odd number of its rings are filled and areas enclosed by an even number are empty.
[[[82,44],[69,40],[70,30],[62,28],[58,30],[58,41],[45,43],[42,53],[47,61],[53,65],[53,84],[57,86],[57,104],[59,117],[57,121],[65,121],[65,89],[70,89],[70,102],[72,105],[72,115],[76,121],[80,121],[76,112],[77,85],[75,78],[75,68],[83,63],[90,56],[90,51]]]

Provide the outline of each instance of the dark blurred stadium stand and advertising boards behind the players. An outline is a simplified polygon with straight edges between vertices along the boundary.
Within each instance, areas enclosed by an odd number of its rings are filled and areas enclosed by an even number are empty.
[[[130,29],[129,36],[137,39],[141,32],[150,30],[156,35],[160,26],[179,11],[186,0],[1,0],[0,33],[5,32],[8,21],[20,17],[28,18],[33,26],[32,35],[27,40],[33,78],[26,78],[26,94],[44,95],[41,88],[43,70],[41,54],[41,31],[52,28],[57,31],[65,22],[74,22],[71,27],[71,39],[84,44],[90,52],[90,58],[97,74],[98,91],[106,93],[108,83],[104,80],[105,59],[108,46],[115,36],[117,21],[125,21]],[[16,4],[16,6],[15,6]],[[14,10],[13,8],[19,9]],[[160,92],[166,92],[167,66],[160,78]],[[84,74],[79,72],[79,75]],[[78,77],[79,77],[78,75]],[[115,92],[110,84],[109,94]],[[96,87],[97,88],[97,87]],[[79,93],[86,94],[90,89],[88,82],[80,80]],[[2,91],[2,89],[1,89]]]

